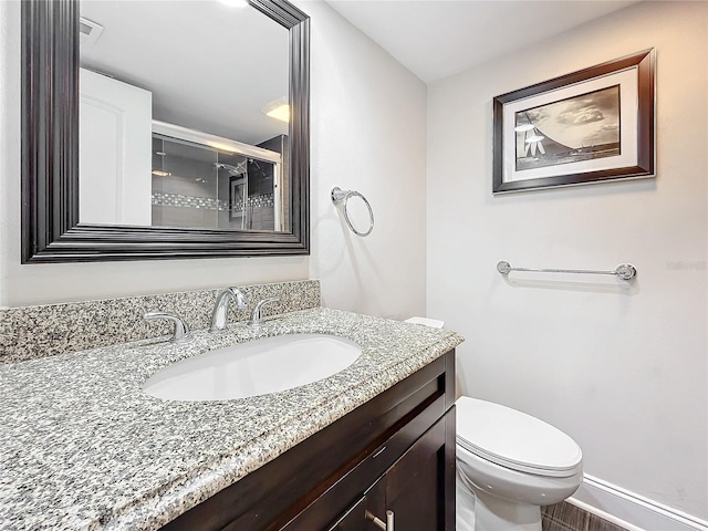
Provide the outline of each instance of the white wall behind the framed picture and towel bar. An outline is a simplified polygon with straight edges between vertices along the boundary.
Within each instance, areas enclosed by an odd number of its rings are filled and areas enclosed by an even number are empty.
[[[585,472],[708,517],[708,4],[642,2],[428,86],[427,313],[464,394],[569,433]],[[657,178],[493,197],[492,97],[657,50]],[[518,267],[638,269],[614,278]]]

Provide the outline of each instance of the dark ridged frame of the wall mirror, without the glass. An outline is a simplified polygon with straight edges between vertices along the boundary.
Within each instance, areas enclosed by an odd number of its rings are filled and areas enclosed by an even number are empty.
[[[79,0],[22,2],[22,263],[310,253],[310,19],[249,0],[290,32],[291,232],[79,222]]]

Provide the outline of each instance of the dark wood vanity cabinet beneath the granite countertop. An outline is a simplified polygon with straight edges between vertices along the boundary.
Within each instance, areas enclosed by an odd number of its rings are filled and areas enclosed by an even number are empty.
[[[452,531],[454,403],[450,351],[163,529]]]

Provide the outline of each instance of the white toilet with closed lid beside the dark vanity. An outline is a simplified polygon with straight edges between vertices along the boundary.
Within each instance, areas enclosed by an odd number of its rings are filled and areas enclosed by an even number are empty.
[[[462,396],[457,412],[457,531],[541,531],[541,506],[582,481],[583,456],[560,429]]]

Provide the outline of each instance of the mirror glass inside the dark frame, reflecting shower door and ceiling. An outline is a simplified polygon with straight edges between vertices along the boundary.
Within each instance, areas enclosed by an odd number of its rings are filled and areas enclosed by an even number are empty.
[[[247,2],[79,6],[80,222],[289,232],[289,30]]]

